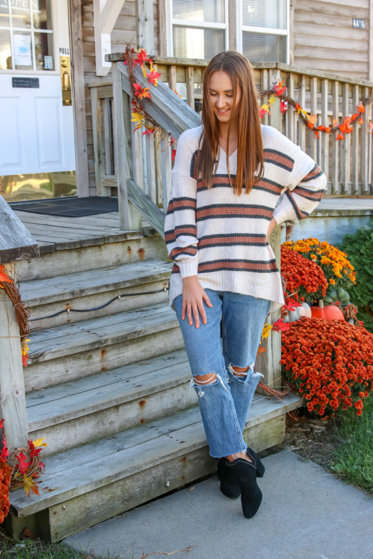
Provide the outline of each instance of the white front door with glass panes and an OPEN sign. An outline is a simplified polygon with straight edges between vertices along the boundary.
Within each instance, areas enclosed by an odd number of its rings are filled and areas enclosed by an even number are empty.
[[[15,177],[46,184],[75,170],[67,1],[0,0],[0,183],[10,201],[22,199]],[[55,195],[41,188],[30,197]]]

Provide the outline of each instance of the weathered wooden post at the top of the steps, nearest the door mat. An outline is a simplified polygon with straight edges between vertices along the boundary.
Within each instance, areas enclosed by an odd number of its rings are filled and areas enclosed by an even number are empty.
[[[118,64],[112,64],[113,78],[113,121],[114,121],[114,151],[116,177],[118,187],[119,204],[119,226],[124,231],[133,229],[130,219],[129,200],[127,195],[127,174],[126,174],[126,132],[124,126],[124,92],[122,88],[122,76],[119,72]]]

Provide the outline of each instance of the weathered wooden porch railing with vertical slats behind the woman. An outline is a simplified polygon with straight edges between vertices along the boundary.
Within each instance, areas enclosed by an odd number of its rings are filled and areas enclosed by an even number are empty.
[[[113,63],[124,59],[123,53],[109,56]],[[160,73],[162,82],[168,83],[172,91],[176,89],[186,99],[188,105],[198,111],[201,106],[203,75],[208,62],[208,60],[155,58],[154,67]],[[257,87],[262,91],[271,89],[278,80],[284,80],[287,94],[311,115],[317,116],[317,125],[331,126],[333,119],[337,119],[339,124],[342,124],[344,116],[355,113],[359,102],[365,101],[372,95],[371,82],[343,78],[287,64],[255,64],[254,75]],[[91,89],[92,100],[96,192],[98,195],[105,196],[111,194],[116,175],[112,81],[92,82],[88,86]],[[266,101],[267,99],[263,98],[262,103]],[[129,115],[127,101],[125,112]],[[341,141],[336,141],[336,134],[325,132],[320,132],[320,139],[317,139],[315,133],[309,130],[291,107],[284,116],[276,109],[271,112],[272,117],[266,115],[262,120],[263,124],[275,126],[318,162],[328,177],[328,195],[373,193],[372,136],[369,128],[371,105],[367,106],[365,113],[362,113],[363,124],[356,124],[352,134]],[[273,112],[276,114],[273,115]],[[127,118],[126,122],[126,130],[129,133],[131,124],[128,124],[130,121]],[[137,134],[136,153],[141,145],[142,157],[136,159],[133,170],[137,178],[136,182],[141,188],[144,187],[145,191],[152,190],[152,200],[158,206],[162,206],[164,202],[164,194],[161,190],[162,177],[165,178],[171,168],[169,156],[163,151],[164,140],[148,136],[146,139],[141,139],[140,136]],[[159,147],[160,144],[161,149],[154,150],[154,146]],[[145,181],[145,186],[142,181]],[[166,183],[168,188],[168,181]]]

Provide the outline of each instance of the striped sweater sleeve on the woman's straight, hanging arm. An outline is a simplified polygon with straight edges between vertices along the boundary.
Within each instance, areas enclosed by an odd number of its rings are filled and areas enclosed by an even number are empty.
[[[197,180],[194,178],[196,152],[193,151],[195,141],[190,132],[192,131],[183,132],[177,143],[172,170],[172,193],[164,222],[168,255],[177,264],[182,278],[196,276],[198,270]]]

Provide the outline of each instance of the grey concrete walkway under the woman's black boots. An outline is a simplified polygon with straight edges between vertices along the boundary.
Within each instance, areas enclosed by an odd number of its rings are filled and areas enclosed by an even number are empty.
[[[285,450],[263,460],[261,508],[243,517],[240,499],[219,491],[216,477],[106,520],[65,539],[91,555],[139,559],[371,559],[373,498],[313,462]],[[152,557],[162,557],[154,555]]]

